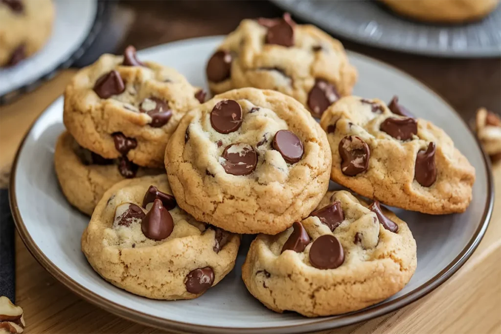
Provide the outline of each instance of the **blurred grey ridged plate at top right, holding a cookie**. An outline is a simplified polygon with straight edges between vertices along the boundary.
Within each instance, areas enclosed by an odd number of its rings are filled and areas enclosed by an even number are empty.
[[[479,22],[432,25],[406,20],[376,0],[271,0],[332,34],[375,47],[439,57],[501,55],[501,6]]]

